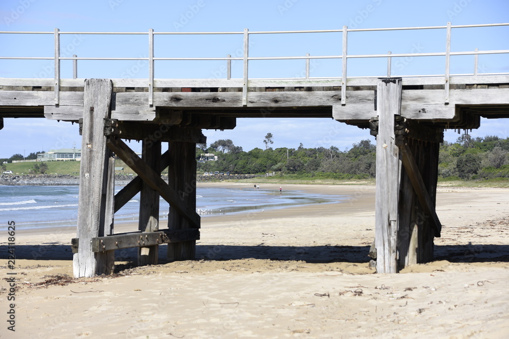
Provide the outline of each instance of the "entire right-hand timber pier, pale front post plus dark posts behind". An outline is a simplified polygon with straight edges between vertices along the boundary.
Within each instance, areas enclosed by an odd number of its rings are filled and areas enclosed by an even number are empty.
[[[443,130],[400,116],[401,78],[379,79],[375,248],[378,273],[433,259],[442,225],[435,211]]]

